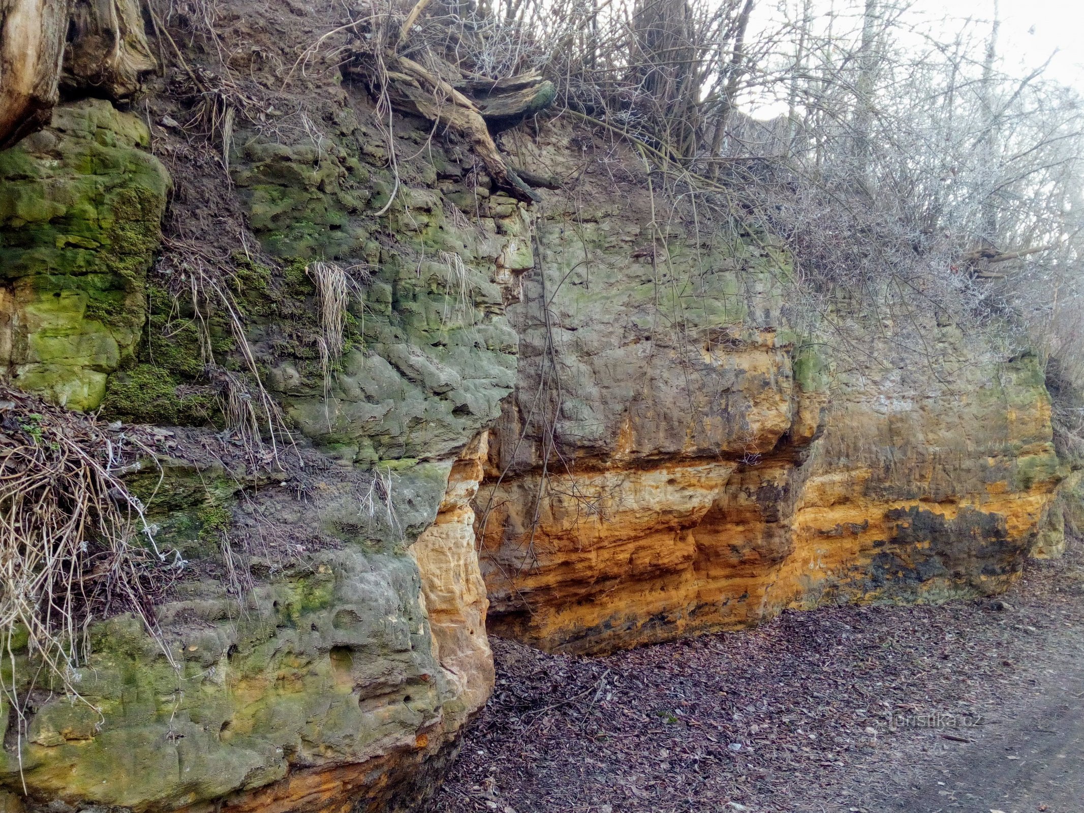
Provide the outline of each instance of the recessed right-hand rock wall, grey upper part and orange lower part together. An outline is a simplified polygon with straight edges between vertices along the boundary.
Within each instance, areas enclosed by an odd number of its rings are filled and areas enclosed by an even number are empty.
[[[932,362],[894,325],[849,362],[793,333],[770,242],[663,240],[643,202],[594,199],[547,198],[509,310],[477,502],[492,631],[599,653],[1017,576],[1062,476],[1034,359],[930,324]]]

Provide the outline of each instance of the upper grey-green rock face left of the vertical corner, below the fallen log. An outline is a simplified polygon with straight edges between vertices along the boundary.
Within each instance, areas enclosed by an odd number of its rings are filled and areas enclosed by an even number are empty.
[[[281,311],[245,294],[250,311],[264,314],[250,340],[267,348],[269,382],[289,417],[337,457],[372,465],[446,456],[491,424],[512,391],[517,337],[504,304],[533,262],[529,215],[486,189],[472,197],[476,221],[468,222],[440,194],[434,166],[413,175],[404,166],[397,184],[375,132],[348,112],[336,127],[319,146],[253,138],[233,160],[268,251],[295,274],[325,259],[353,269],[361,283],[327,397],[317,363],[317,292],[307,278],[294,289],[312,305],[294,319],[293,337]],[[436,145],[431,152],[449,195],[465,194],[456,158]]]

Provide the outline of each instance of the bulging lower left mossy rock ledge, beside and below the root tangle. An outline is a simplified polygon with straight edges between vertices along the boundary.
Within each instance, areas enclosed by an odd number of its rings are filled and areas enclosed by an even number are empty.
[[[410,780],[440,763],[489,692],[475,683],[480,700],[466,696],[441,667],[408,552],[437,516],[450,468],[423,463],[346,480],[333,470],[304,502],[272,480],[245,511],[236,472],[147,461],[130,485],[159,546],[189,563],[156,608],[162,642],[128,615],[94,624],[92,656],[73,680],[81,697],[43,698],[22,762],[0,754],[0,780],[76,806],[209,811],[264,786],[294,795],[284,809],[293,808],[311,777],[325,791],[338,777],[346,787],[328,791],[338,803],[408,803]],[[390,496],[367,512],[373,477]],[[287,550],[242,556],[242,540],[268,529],[292,529]],[[317,539],[324,547],[307,550]],[[206,567],[227,541],[241,578],[253,580],[243,594]],[[25,691],[25,654],[15,667]],[[0,676],[11,685],[10,664]]]

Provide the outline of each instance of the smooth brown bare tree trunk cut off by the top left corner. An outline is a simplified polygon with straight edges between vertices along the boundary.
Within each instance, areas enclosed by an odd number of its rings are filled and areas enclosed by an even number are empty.
[[[67,0],[0,0],[0,149],[49,122],[68,12]]]

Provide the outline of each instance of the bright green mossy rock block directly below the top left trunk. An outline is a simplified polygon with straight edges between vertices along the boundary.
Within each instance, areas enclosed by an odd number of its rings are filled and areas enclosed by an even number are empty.
[[[134,115],[102,100],[0,152],[0,366],[72,409],[133,359],[169,176]]]

